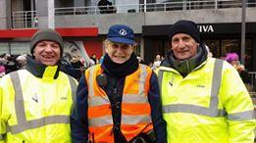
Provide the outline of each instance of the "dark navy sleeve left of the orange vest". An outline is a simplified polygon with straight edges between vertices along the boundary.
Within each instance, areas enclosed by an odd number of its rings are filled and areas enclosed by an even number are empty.
[[[71,116],[71,131],[73,143],[88,141],[88,90],[84,76],[81,76],[77,87],[77,103]]]

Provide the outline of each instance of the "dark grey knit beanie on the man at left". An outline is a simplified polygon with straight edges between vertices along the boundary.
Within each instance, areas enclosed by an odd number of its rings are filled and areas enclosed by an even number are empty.
[[[37,30],[30,40],[30,53],[33,55],[33,49],[40,41],[49,40],[57,42],[61,48],[61,56],[63,54],[63,39],[62,36],[54,29],[46,28]]]

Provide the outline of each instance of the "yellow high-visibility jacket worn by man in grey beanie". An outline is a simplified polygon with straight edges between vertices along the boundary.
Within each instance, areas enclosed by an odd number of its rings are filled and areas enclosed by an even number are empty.
[[[42,77],[26,70],[0,79],[0,142],[71,143],[70,115],[77,81],[47,67]]]

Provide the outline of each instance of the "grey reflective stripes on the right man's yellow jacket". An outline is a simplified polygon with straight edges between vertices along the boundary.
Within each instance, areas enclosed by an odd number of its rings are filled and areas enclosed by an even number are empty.
[[[222,81],[222,70],[223,70],[223,61],[216,59],[213,71],[213,80],[212,80],[212,88],[211,88],[211,101],[209,108],[191,105],[191,104],[170,104],[163,106],[163,113],[191,113],[195,115],[202,115],[208,117],[224,117],[227,116],[230,120],[246,120],[246,119],[254,119],[253,111],[249,112],[240,112],[235,114],[227,114],[225,110],[218,109],[219,105],[219,90]],[[158,72],[158,80],[159,86],[162,90],[162,80],[163,80],[164,71],[159,70]],[[163,91],[161,91],[162,94]]]

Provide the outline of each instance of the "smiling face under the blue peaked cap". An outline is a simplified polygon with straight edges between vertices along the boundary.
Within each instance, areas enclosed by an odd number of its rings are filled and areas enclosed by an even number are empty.
[[[132,45],[123,43],[109,42],[106,46],[106,53],[108,53],[110,59],[117,64],[127,62],[132,51]]]

